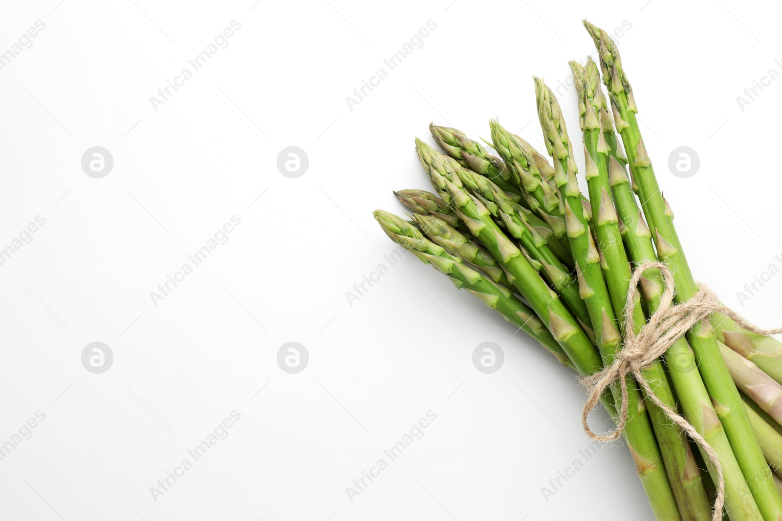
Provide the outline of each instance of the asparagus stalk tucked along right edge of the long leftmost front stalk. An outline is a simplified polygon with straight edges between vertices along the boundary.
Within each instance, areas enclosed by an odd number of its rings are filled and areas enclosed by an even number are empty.
[[[497,224],[504,227],[508,235],[522,244],[524,248],[522,252],[526,252],[530,258],[540,262],[543,275],[551,282],[589,334],[591,323],[587,306],[581,299],[579,286],[568,267],[562,264],[557,255],[551,251],[543,237],[526,223],[523,214],[518,212],[518,207],[505,197],[500,187],[479,173],[461,168],[454,171],[460,177],[462,184],[486,206]]]

